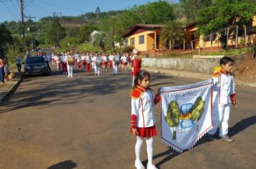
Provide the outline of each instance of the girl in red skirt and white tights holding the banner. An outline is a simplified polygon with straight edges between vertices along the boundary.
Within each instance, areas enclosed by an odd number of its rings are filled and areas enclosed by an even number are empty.
[[[143,138],[147,143],[147,169],[156,169],[152,164],[153,155],[153,136],[157,135],[155,129],[154,105],[160,102],[160,89],[155,95],[150,89],[150,73],[141,70],[134,80],[134,88],[131,93],[132,97],[132,120],[131,132],[137,137],[135,145],[135,167],[145,169],[140,160],[140,150],[142,148]]]

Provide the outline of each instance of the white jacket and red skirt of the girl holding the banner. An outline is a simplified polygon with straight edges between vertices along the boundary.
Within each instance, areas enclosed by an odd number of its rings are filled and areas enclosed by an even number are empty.
[[[132,90],[132,122],[131,128],[136,128],[140,137],[152,137],[157,135],[155,129],[154,106],[161,97],[154,94],[152,90],[136,87]]]

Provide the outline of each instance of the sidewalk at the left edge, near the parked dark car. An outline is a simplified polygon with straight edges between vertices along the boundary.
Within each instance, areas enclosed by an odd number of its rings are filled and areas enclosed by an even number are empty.
[[[12,81],[7,81],[5,82],[6,85],[0,87],[0,103],[4,102],[4,100],[6,100],[6,98],[12,94],[12,92],[15,92],[19,84],[22,82],[22,74],[18,72],[14,72],[14,74],[14,79]]]

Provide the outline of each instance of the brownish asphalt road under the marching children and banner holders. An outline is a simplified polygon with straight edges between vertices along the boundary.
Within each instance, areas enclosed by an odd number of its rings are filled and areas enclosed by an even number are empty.
[[[151,87],[201,81],[151,74]],[[0,168],[134,168],[135,138],[129,133],[131,77],[76,71],[24,79],[0,107]],[[178,154],[160,141],[156,106],[154,160],[158,168],[255,168],[256,90],[237,87],[229,135],[233,143],[203,137]],[[147,163],[146,146],[142,148]]]

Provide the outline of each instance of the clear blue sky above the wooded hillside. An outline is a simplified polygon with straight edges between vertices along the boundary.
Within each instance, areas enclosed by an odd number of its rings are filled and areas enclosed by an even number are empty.
[[[116,11],[152,1],[157,0],[24,0],[24,15],[38,21],[44,16],[52,16],[54,12],[60,16],[79,16],[95,12],[97,6],[101,11]],[[20,0],[0,0],[0,22],[20,20]]]

